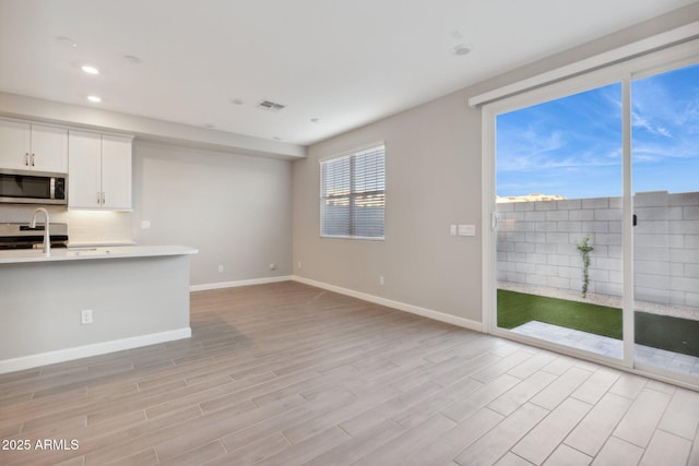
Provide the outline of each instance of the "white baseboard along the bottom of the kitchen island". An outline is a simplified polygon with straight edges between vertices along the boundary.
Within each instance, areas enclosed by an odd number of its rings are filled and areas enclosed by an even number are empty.
[[[152,333],[149,335],[133,336],[130,338],[114,339],[111,342],[95,343],[93,345],[78,346],[74,348],[59,349],[57,351],[40,353],[38,355],[23,356],[21,358],[0,361],[0,374],[32,369],[40,366],[55,365],[57,362],[72,361],[73,359],[87,358],[90,356],[105,355],[107,353],[139,348],[141,346],[155,345],[157,343],[173,342],[192,336],[190,327],[171,330],[167,332]]]

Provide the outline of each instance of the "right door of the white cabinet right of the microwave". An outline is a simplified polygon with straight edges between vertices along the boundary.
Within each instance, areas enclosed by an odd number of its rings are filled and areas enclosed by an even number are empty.
[[[131,139],[102,136],[103,207],[131,210]]]

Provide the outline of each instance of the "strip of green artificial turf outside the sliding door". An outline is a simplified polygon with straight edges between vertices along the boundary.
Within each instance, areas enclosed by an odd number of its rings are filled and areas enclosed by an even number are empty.
[[[588,302],[498,289],[498,326],[530,321],[621,339],[621,310]],[[699,357],[699,321],[636,312],[636,343]]]

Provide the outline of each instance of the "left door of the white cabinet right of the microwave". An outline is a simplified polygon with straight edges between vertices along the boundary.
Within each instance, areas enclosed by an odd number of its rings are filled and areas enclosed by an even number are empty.
[[[68,206],[98,208],[102,203],[102,136],[68,135]]]

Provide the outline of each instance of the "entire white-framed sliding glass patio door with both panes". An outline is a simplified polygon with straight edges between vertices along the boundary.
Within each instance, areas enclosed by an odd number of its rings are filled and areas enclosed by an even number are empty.
[[[486,106],[490,331],[699,386],[699,64],[683,60]]]

